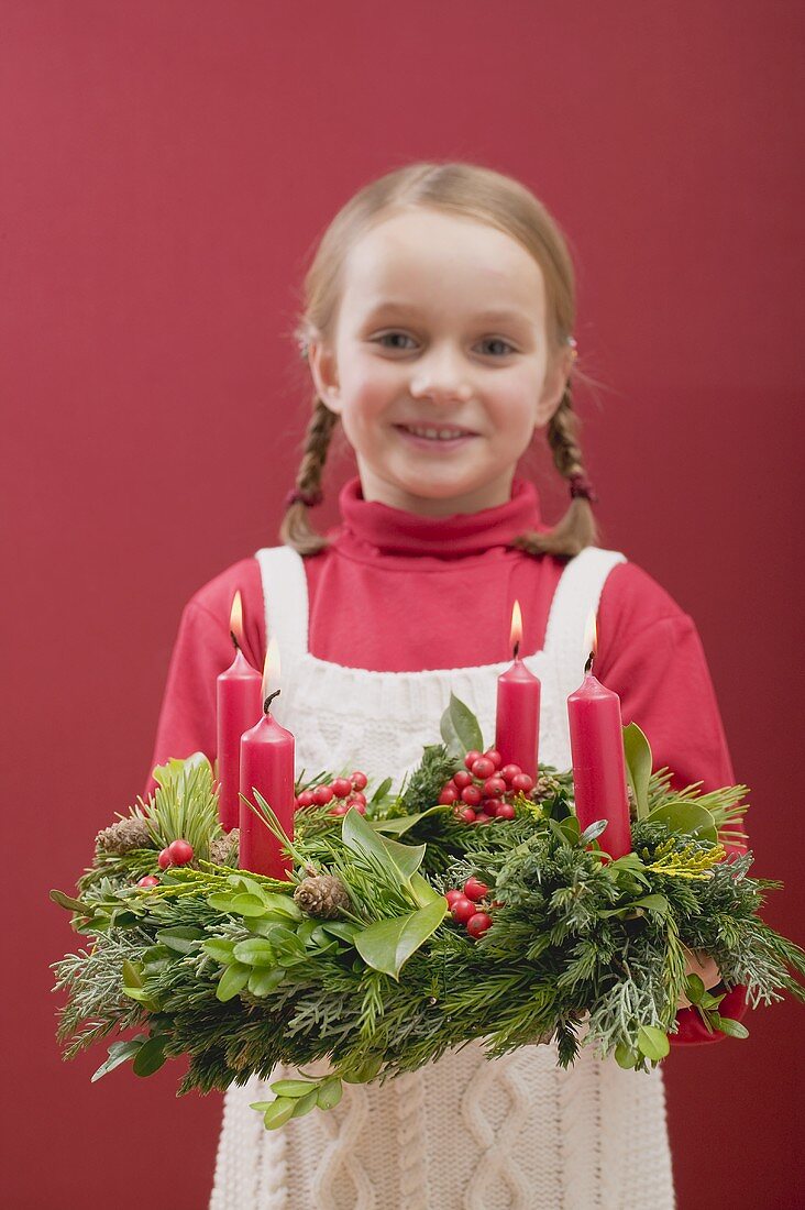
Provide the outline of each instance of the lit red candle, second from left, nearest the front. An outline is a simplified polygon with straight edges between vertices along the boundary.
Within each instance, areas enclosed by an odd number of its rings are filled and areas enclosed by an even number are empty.
[[[258,790],[280,820],[286,835],[293,840],[294,799],[294,738],[281,727],[271,714],[271,702],[280,690],[269,693],[270,669],[276,669],[278,679],[278,653],[276,640],[269,644],[263,676],[263,718],[241,738],[241,794],[259,811],[254,797]],[[252,807],[241,801],[241,870],[265,874],[272,878],[287,878],[292,859],[280,849],[280,841]]]

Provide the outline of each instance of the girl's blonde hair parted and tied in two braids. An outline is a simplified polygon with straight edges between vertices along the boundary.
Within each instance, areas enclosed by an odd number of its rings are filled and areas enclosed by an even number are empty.
[[[386,173],[358,190],[324,231],[304,281],[304,312],[294,330],[303,356],[307,341],[334,336],[341,298],[344,265],[351,248],[378,223],[413,207],[472,218],[517,240],[542,271],[547,302],[550,356],[567,348],[576,318],[575,275],[564,236],[546,207],[512,177],[472,163],[412,163]],[[297,499],[292,499],[280,537],[300,554],[315,554],[328,540],[310,525],[309,505],[321,500],[321,480],[338,416],[314,394],[314,410],[297,472]],[[579,439],[579,416],[573,410],[570,380],[547,426],[553,462],[569,480],[585,478]],[[522,534],[513,546],[530,554],[574,555],[598,541],[590,501],[571,499],[564,517],[544,534]]]

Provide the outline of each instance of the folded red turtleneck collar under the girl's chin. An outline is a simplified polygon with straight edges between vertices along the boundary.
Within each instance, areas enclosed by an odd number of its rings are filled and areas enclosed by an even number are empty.
[[[502,505],[477,513],[419,517],[402,508],[363,499],[356,477],[339,494],[343,526],[337,543],[355,553],[433,555],[441,559],[482,554],[490,547],[510,546],[527,530],[545,530],[536,488],[514,479],[512,495]]]

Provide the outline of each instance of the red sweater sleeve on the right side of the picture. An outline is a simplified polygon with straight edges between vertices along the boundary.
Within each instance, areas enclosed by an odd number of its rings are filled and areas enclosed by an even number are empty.
[[[651,744],[654,768],[672,770],[672,786],[702,782],[701,790],[735,785],[724,725],[707,659],[692,618],[636,564],[606,577],[598,610],[596,675],[621,698],[623,724],[637,722]],[[742,852],[730,846],[730,852]],[[747,1012],[746,989],[734,987],[719,1007],[735,1020]],[[674,1044],[718,1042],[694,1008],[677,1014]]]

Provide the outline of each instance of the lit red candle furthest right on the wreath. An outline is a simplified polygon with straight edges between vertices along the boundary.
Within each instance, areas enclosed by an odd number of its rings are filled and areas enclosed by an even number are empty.
[[[596,646],[592,618],[592,651],[585,679],[568,698],[576,818],[582,831],[597,819],[606,819],[598,843],[619,858],[632,851],[621,699],[592,674]]]

